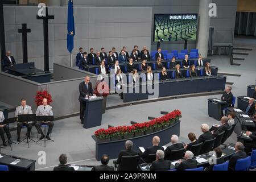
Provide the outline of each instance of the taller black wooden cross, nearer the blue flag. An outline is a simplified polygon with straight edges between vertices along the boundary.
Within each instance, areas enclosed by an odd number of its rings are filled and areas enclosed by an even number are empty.
[[[49,72],[49,32],[48,19],[54,19],[53,15],[48,15],[48,7],[46,7],[45,16],[36,16],[36,19],[43,19],[44,25],[44,71]]]

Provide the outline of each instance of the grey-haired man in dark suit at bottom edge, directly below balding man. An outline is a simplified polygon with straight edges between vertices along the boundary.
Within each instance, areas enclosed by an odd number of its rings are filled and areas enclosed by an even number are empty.
[[[164,151],[156,151],[156,160],[152,162],[150,171],[167,171],[171,168],[170,160],[164,160]]]

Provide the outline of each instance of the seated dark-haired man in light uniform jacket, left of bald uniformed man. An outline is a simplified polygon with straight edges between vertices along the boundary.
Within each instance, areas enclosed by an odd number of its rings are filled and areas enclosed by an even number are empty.
[[[19,114],[33,114],[31,106],[26,105],[26,99],[22,98],[20,100],[20,106],[16,107],[15,117]],[[20,131],[22,126],[27,126],[27,137],[30,138],[30,132],[32,129],[32,122],[18,122],[17,125],[17,141],[20,142]]]

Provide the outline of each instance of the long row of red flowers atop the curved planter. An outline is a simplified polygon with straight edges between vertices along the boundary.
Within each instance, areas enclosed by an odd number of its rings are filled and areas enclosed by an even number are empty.
[[[181,111],[174,110],[160,118],[152,119],[148,122],[135,123],[131,126],[117,126],[109,129],[99,129],[95,131],[94,135],[98,138],[110,138],[116,136],[123,136],[132,133],[139,133],[150,130],[154,127],[167,126],[173,123],[176,119],[181,118]]]

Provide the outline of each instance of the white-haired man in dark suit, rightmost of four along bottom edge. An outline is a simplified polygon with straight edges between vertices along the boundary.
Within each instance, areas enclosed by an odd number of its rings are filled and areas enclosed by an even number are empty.
[[[193,156],[194,154],[191,151],[186,151],[184,155],[185,160],[178,160],[178,162],[175,164],[175,169],[177,171],[184,171],[185,169],[197,168],[197,162],[195,159],[192,159]]]

